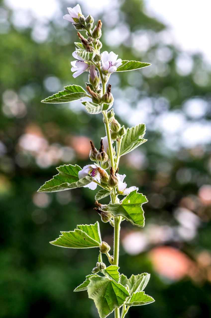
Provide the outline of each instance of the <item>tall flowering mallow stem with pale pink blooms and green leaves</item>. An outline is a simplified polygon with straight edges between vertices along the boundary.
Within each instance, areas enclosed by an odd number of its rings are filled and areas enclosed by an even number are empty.
[[[145,125],[125,129],[115,119],[113,111],[113,95],[111,85],[107,84],[113,72],[125,72],[149,66],[149,63],[118,59],[113,52],[100,53],[102,43],[102,23],[98,21],[93,28],[94,19],[89,15],[84,17],[79,4],[74,8],[67,8],[69,14],[64,19],[72,22],[76,30],[85,31],[86,38],[77,32],[80,42],[75,42],[76,51],[71,62],[73,77],[83,72],[89,73],[86,90],[78,85],[64,87],[62,92],[42,100],[44,103],[66,103],[74,100],[83,100],[82,104],[90,114],[102,114],[106,136],[100,139],[100,148],[97,150],[91,143],[90,160],[93,164],[79,167],[78,165],[63,165],[58,168],[58,174],[40,187],[39,192],[55,192],[88,187],[101,189],[95,195],[96,210],[105,223],[114,227],[113,255],[110,255],[110,246],[101,240],[98,221],[90,225],[77,225],[74,231],[61,232],[59,238],[50,242],[53,245],[68,248],[98,248],[99,256],[92,273],[86,276],[84,282],[75,288],[75,292],[87,290],[89,298],[93,299],[101,318],[107,317],[113,311],[115,318],[124,318],[131,306],[146,305],[154,299],[145,294],[144,289],[149,281],[148,273],[132,275],[127,278],[120,274],[119,241],[120,224],[123,220],[133,225],[144,226],[144,212],[142,204],[147,202],[146,197],[138,192],[138,188],[127,188],[124,182],[126,175],[120,175],[120,157],[132,151],[142,143]],[[115,146],[113,143],[115,142]],[[109,204],[102,204],[105,197],[110,196]],[[125,196],[119,198],[119,196]],[[109,266],[103,262],[102,255],[107,257]]]

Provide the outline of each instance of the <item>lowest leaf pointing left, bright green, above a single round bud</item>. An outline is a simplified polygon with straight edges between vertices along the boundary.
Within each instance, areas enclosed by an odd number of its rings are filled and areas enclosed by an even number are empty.
[[[98,221],[90,225],[77,225],[74,231],[61,233],[62,235],[50,244],[69,248],[91,248],[99,247],[101,243]]]

